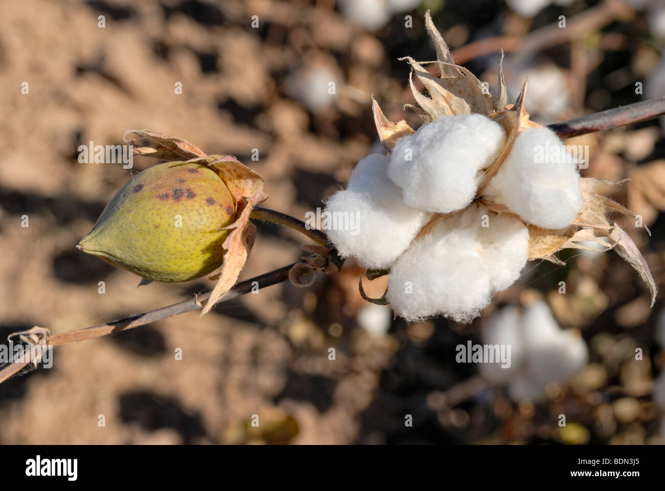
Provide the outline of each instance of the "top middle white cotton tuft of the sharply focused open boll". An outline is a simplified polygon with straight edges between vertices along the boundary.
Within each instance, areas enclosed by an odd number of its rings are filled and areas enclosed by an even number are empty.
[[[501,125],[481,114],[444,116],[397,140],[388,177],[414,208],[460,210],[475,196],[481,169],[493,162],[504,139]]]

